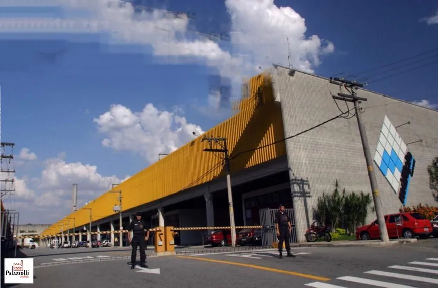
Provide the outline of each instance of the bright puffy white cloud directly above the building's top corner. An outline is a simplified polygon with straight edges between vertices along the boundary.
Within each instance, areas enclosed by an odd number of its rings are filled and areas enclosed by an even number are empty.
[[[304,18],[290,7],[277,7],[273,0],[226,0],[231,16],[233,50],[252,53],[256,66],[266,68],[287,62],[287,39],[291,64],[313,72],[320,56],[332,53],[334,45],[317,35],[306,38]]]

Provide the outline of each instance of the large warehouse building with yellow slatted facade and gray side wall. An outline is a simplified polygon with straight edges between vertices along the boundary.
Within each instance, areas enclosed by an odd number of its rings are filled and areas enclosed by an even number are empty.
[[[353,108],[351,103],[332,97],[347,93],[344,87],[323,77],[274,66],[251,78],[243,91],[244,97],[235,104],[238,113],[233,117],[53,224],[43,234],[60,233],[63,226],[66,230],[65,225],[71,226],[72,219],[75,231],[85,232],[90,217],[92,231],[118,230],[119,214],[113,211],[118,194],[112,193],[116,191],[122,193],[122,226],[127,226],[137,210],[144,211],[144,218],[152,226],[229,225],[223,155],[205,152],[205,148],[220,147],[215,142],[210,146],[208,141],[201,141],[203,136],[227,139],[237,226],[267,225],[266,221],[271,220],[266,220],[266,215],[283,203],[293,214],[292,240],[303,242],[318,197],[329,193],[335,180],[348,190],[371,192],[354,111],[328,121]],[[364,89],[359,89],[357,95],[367,99],[361,103],[361,115],[384,213],[397,212],[403,204],[434,204],[426,168],[438,156],[438,111]],[[307,132],[299,134],[303,131]],[[405,155],[415,159],[415,173],[409,176],[408,188],[400,183]],[[413,160],[409,163],[412,167]],[[370,213],[368,218],[371,221],[375,216]],[[200,244],[205,233],[181,232],[176,244]],[[108,238],[118,245],[123,239],[117,236]]]

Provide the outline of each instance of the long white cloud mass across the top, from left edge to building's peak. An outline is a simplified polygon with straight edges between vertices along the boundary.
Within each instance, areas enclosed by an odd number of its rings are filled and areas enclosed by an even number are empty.
[[[0,29],[109,33],[114,43],[152,47],[152,54],[166,62],[201,62],[217,69],[221,76],[231,77],[234,86],[240,85],[242,77],[254,75],[272,63],[287,65],[287,38],[291,64],[305,71],[313,72],[321,63],[321,56],[334,50],[332,43],[317,35],[307,37],[304,18],[290,7],[277,7],[273,0],[225,1],[232,24],[229,51],[195,33],[186,15],[176,16],[159,9],[134,13],[130,3],[118,0],[62,0],[59,3],[69,9],[87,10],[92,16],[66,20],[7,18],[2,20],[4,25],[0,25]]]

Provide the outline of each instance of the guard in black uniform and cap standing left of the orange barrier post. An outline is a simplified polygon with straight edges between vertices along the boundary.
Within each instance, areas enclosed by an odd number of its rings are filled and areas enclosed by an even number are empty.
[[[135,268],[138,246],[140,246],[140,266],[143,268],[148,268],[148,266],[146,266],[146,242],[149,239],[149,227],[145,221],[141,220],[141,212],[136,212],[134,216],[135,219],[129,223],[128,227],[128,239],[129,243],[132,245],[131,269]],[[131,231],[133,231],[134,235],[132,239]]]

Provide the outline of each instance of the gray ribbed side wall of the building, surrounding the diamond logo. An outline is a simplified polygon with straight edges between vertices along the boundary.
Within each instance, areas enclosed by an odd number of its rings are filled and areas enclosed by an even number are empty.
[[[331,95],[346,92],[341,91],[339,86],[330,84],[328,79],[298,71],[289,75],[289,69],[284,67],[276,67],[272,71],[275,93],[281,101],[286,137],[341,113]],[[438,156],[438,111],[370,91],[359,90],[358,95],[368,99],[362,103],[362,117],[372,158],[385,115],[394,126],[411,121],[410,125],[397,129],[405,143],[423,139],[423,143],[408,145],[416,160],[416,167],[410,182],[407,205],[417,205],[420,202],[436,205],[428,186],[426,167],[433,157]],[[343,111],[348,110],[345,102],[337,102]],[[353,108],[352,103],[348,105],[350,109]],[[286,147],[299,241],[304,241],[304,232],[312,219],[312,208],[317,203],[317,197],[324,191],[330,193],[336,179],[347,190],[364,191],[371,195],[355,117],[349,120],[336,119],[287,140]],[[384,213],[398,212],[402,206],[398,194],[394,193],[377,165],[373,165]],[[374,213],[370,213],[368,220],[374,219]]]

